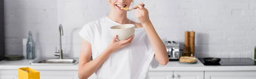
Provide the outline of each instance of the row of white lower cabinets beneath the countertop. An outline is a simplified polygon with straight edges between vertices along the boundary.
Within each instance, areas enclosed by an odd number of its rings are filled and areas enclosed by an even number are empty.
[[[79,79],[75,70],[38,71],[40,79]],[[18,79],[17,70],[0,70],[0,79]],[[148,79],[256,79],[256,71],[149,71]]]

